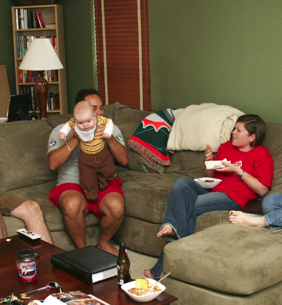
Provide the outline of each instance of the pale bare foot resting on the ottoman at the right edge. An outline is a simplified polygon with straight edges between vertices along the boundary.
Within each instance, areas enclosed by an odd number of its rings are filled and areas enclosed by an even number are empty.
[[[253,217],[241,211],[230,211],[229,221],[238,226],[266,228],[264,217]]]

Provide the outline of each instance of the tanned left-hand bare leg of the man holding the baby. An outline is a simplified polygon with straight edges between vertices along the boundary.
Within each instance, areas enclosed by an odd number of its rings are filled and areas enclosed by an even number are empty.
[[[65,191],[60,195],[59,207],[62,211],[65,227],[77,248],[86,247],[87,202],[85,197],[77,191]]]

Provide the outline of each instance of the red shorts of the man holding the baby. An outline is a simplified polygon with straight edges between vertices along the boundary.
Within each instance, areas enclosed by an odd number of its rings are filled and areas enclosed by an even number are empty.
[[[119,178],[115,178],[112,180],[109,180],[109,184],[108,187],[105,191],[101,191],[100,187],[99,187],[99,195],[98,195],[98,201],[97,202],[92,202],[90,199],[87,200],[82,188],[80,185],[75,184],[75,183],[63,183],[61,185],[56,186],[49,195],[49,200],[51,202],[53,202],[57,207],[59,207],[59,198],[61,193],[65,192],[65,191],[77,191],[79,193],[81,193],[86,201],[87,201],[87,205],[88,205],[88,211],[87,214],[89,212],[92,212],[94,215],[98,216],[99,219],[101,219],[100,213],[99,213],[99,205],[102,201],[102,199],[109,193],[118,193],[120,194],[122,197],[123,193],[121,191],[120,186],[122,185],[122,180]]]

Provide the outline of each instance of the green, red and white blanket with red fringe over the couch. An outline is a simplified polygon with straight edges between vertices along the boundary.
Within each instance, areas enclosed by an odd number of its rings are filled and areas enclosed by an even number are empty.
[[[172,125],[182,110],[167,108],[146,116],[129,139],[129,148],[137,151],[152,166],[156,163],[170,165],[169,154],[174,151],[167,150],[167,142]]]

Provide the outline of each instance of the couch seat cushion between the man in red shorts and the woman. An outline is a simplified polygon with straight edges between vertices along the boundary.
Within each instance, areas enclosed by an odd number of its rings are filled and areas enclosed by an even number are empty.
[[[162,223],[164,210],[176,177],[168,174],[143,173],[117,166],[123,180],[126,216],[155,224]]]

